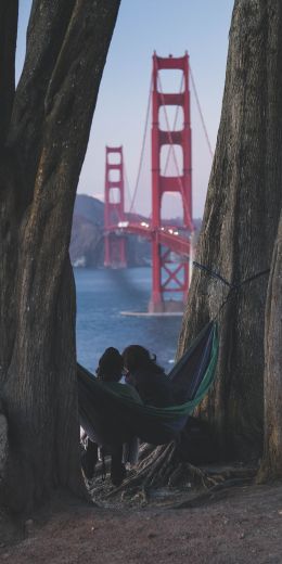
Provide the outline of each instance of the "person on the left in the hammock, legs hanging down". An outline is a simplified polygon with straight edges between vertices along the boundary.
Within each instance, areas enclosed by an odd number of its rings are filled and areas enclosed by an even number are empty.
[[[123,370],[124,360],[119,351],[114,347],[106,348],[99,360],[99,366],[97,369],[98,380],[101,382],[103,386],[111,387],[112,389],[117,388],[118,390],[118,387],[123,386],[124,395],[126,393],[128,398],[133,399],[138,403],[141,403],[142,401],[140,399],[140,396],[133,386],[125,386],[125,384],[119,384],[119,381],[123,376]],[[108,414],[108,418],[111,418],[111,413]],[[102,449],[105,447],[104,445],[97,445],[88,438],[88,457],[86,457],[85,465],[82,467],[86,476],[89,479],[91,479],[91,477],[93,477],[94,474],[94,466],[98,461],[99,446],[101,446]],[[111,480],[114,484],[114,486],[119,486],[126,475],[125,464],[123,463],[124,445],[107,445],[107,447],[111,451],[112,457]],[[130,450],[130,446],[127,446],[126,450],[128,452]]]

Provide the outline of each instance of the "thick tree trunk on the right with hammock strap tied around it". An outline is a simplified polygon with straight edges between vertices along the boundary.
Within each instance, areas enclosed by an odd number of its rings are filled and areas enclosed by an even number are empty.
[[[232,284],[270,267],[282,200],[282,4],[236,0],[217,148],[196,260]],[[198,413],[222,457],[257,458],[264,424],[264,317],[268,275],[233,292],[219,316],[214,389]],[[214,318],[228,286],[194,269],[180,355]]]

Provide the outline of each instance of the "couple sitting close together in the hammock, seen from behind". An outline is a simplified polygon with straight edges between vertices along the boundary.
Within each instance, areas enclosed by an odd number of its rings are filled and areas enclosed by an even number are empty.
[[[125,384],[120,383],[125,376]],[[130,345],[123,355],[114,348],[107,348],[99,360],[97,377],[105,386],[123,386],[124,392],[134,401],[154,407],[168,407],[174,403],[171,382],[165,371],[156,363],[156,357],[140,345]],[[87,453],[82,467],[88,478],[91,478],[98,461],[98,447],[88,439]],[[102,453],[110,450],[112,456],[111,479],[115,486],[121,484],[126,475],[125,462],[136,462],[138,459],[138,439],[130,444],[118,446],[102,446]],[[103,454],[102,454],[103,457]]]

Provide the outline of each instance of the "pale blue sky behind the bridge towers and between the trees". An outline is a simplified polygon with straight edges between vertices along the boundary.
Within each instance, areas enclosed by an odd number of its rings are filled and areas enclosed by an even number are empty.
[[[111,0],[105,0],[111,1]],[[21,74],[30,0],[20,0],[16,74]],[[105,145],[123,145],[126,193],[133,193],[144,136],[152,54],[190,55],[190,64],[213,151],[225,87],[233,0],[121,0],[110,46],[78,193],[103,200]],[[176,73],[166,72],[165,91],[179,91]],[[202,217],[211,156],[191,89],[193,217]],[[169,116],[171,121],[174,116]],[[151,213],[150,129],[145,137],[136,208]],[[126,205],[129,197],[126,197]],[[180,197],[165,196],[163,217],[182,215]]]

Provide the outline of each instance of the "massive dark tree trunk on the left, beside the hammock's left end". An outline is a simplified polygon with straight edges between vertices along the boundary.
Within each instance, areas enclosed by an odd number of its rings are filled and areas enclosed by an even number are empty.
[[[0,11],[0,395],[9,421],[7,499],[22,511],[57,486],[84,495],[68,245],[119,0],[34,0],[14,93],[15,5],[5,0]]]

